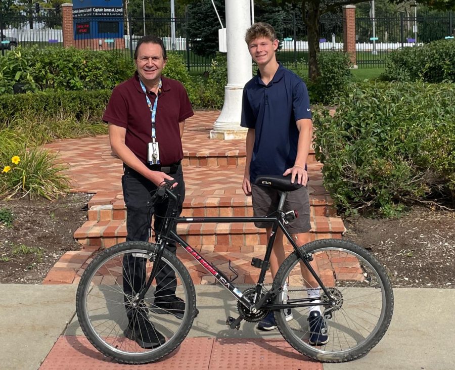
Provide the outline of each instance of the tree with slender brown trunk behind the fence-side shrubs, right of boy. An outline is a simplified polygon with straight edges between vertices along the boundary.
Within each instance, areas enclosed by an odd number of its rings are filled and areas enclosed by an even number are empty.
[[[396,5],[410,3],[404,0],[390,0]],[[277,5],[288,3],[299,9],[303,22],[308,29],[308,77],[314,81],[319,76],[317,67],[317,53],[319,50],[319,20],[327,13],[339,12],[344,5],[365,3],[365,0],[276,0]],[[455,0],[419,0],[419,4],[427,5],[434,9],[448,10],[455,8]]]

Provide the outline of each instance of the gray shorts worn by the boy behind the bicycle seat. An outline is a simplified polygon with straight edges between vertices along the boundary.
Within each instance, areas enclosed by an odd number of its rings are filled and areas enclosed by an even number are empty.
[[[252,184],[251,193],[255,216],[266,216],[277,210],[278,203],[280,202],[280,192],[278,190]],[[311,224],[307,187],[301,187],[288,194],[284,205],[284,211],[288,212],[292,210],[297,210],[299,217],[289,221],[289,223],[285,225],[286,230],[290,234],[309,232]],[[255,222],[254,224],[259,228],[272,226],[272,223],[268,222]]]

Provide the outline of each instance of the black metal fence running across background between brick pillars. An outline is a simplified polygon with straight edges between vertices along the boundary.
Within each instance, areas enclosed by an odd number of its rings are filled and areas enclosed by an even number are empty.
[[[144,34],[161,37],[169,51],[180,54],[190,71],[207,71],[212,57],[202,57],[192,51],[187,37],[188,17],[179,18],[124,18],[123,22],[74,19],[75,42],[78,48],[117,50],[125,58],[132,58],[136,42]],[[89,38],[90,27],[102,31],[96,39]],[[102,24],[100,24],[102,23]],[[113,28],[113,24],[117,28]],[[417,27],[416,27],[417,26]],[[118,28],[123,28],[119,30]],[[48,12],[44,15],[0,19],[3,29],[1,49],[6,53],[16,45],[29,47],[62,47],[61,14]],[[124,34],[116,38],[116,34]],[[341,15],[324,15],[320,20],[320,50],[343,50],[343,18]],[[416,44],[453,36],[453,13],[438,16],[404,17],[400,13],[388,18],[356,18],[356,57],[359,67],[383,67],[391,50],[412,47]],[[300,15],[289,14],[280,27],[278,59],[286,66],[308,63],[307,27]],[[417,37],[416,37],[417,35]]]

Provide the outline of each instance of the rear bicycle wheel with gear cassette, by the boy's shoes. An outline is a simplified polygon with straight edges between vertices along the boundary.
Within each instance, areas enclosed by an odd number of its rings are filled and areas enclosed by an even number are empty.
[[[392,286],[383,266],[366,249],[338,239],[317,240],[300,249],[316,260],[324,285],[336,299],[333,307],[320,306],[326,315],[323,334],[328,342],[309,344],[310,337],[314,340],[309,330],[310,307],[292,308],[289,321],[286,310],[275,311],[281,334],[297,351],[315,360],[344,362],[365,355],[384,336],[392,318]],[[287,289],[287,294],[275,303],[283,303],[285,296],[289,304],[308,298],[310,287],[302,277],[300,261],[294,252],[278,270],[274,288]],[[322,302],[328,302],[322,289],[319,295]]]

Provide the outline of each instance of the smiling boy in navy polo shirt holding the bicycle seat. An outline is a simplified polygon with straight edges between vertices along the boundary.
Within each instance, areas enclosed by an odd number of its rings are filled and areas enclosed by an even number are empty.
[[[288,194],[285,211],[297,210],[299,217],[286,226],[298,245],[309,242],[310,207],[308,198],[308,173],[306,159],[311,145],[312,119],[308,91],[305,83],[293,72],[277,62],[275,52],[278,40],[275,30],[266,23],[255,23],[246,32],[248,50],[258,66],[258,73],[244,87],[241,126],[247,127],[245,176],[242,189],[252,195],[255,216],[265,216],[278,207],[279,192],[254,184],[258,175],[291,175],[303,187]],[[256,223],[266,228],[267,238],[271,225]],[[272,277],[285,259],[283,232],[279,229],[270,256]],[[315,261],[313,269],[319,269]],[[302,275],[308,296],[319,297],[319,285],[305,267]],[[320,301],[315,301],[319,303]],[[286,320],[292,320],[290,309]],[[308,315],[312,345],[328,342],[326,323],[320,306],[312,306]],[[270,312],[258,324],[260,330],[276,328],[274,313]]]

